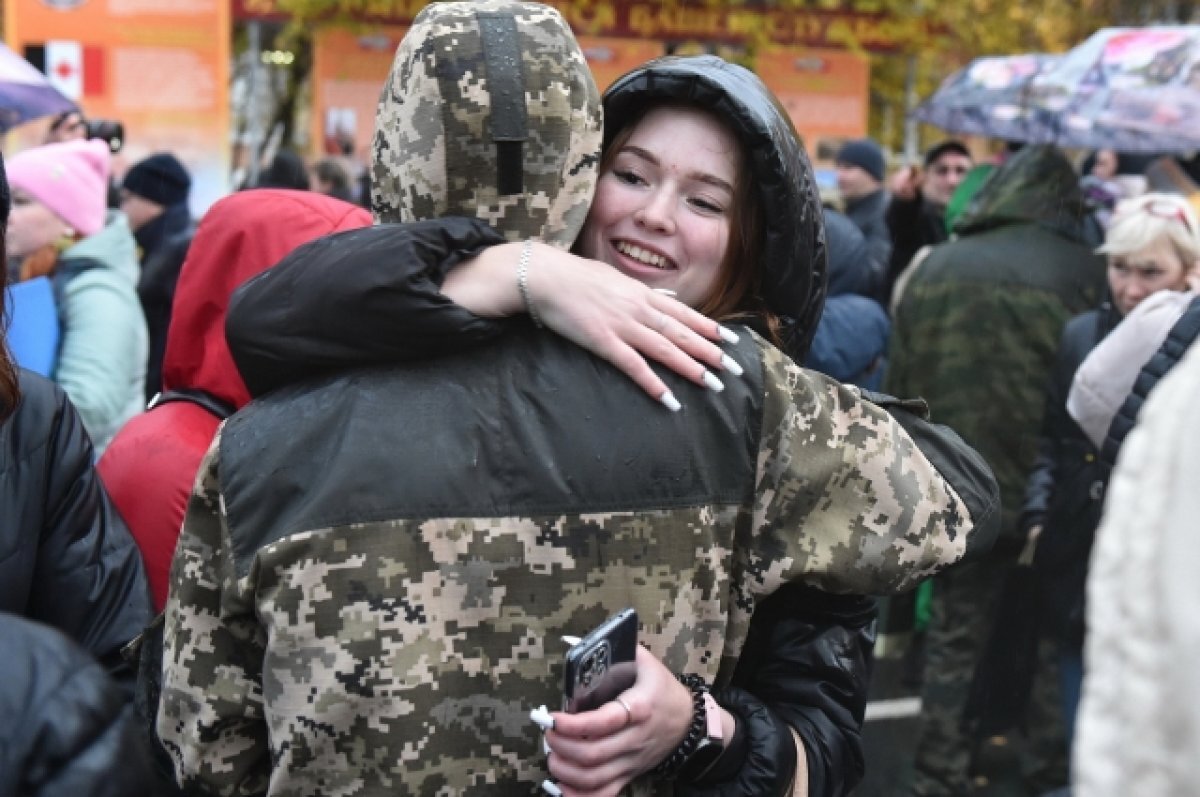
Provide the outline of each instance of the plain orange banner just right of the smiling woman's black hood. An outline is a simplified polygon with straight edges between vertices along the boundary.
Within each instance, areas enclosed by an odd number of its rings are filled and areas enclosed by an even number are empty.
[[[865,55],[781,47],[760,53],[756,67],[810,154],[818,151],[824,138],[866,136],[871,70]]]

